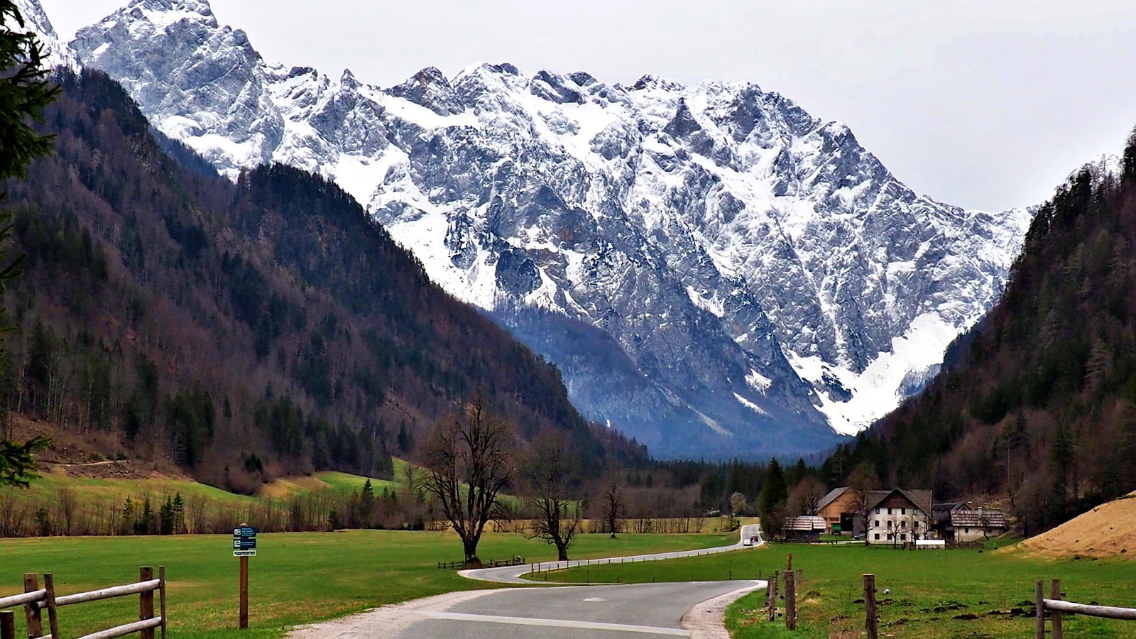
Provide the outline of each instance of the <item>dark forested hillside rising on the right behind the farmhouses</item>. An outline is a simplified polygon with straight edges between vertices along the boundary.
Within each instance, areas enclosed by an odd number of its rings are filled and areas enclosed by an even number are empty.
[[[1136,488],[1136,134],[1037,214],[1001,302],[917,398],[827,463],[1004,493],[1033,534]]]

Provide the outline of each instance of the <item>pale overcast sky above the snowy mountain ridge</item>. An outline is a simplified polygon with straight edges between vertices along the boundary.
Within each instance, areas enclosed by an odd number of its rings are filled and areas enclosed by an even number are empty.
[[[69,39],[125,0],[41,0]],[[212,0],[269,63],[389,86],[474,61],[744,80],[845,122],[918,192],[1037,204],[1136,124],[1130,0]]]

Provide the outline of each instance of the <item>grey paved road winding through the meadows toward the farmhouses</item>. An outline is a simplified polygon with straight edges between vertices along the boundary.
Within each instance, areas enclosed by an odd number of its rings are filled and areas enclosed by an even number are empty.
[[[757,536],[757,525],[743,526],[740,539]],[[684,557],[737,550],[742,542],[703,550],[636,556],[635,561]],[[623,558],[629,561],[630,557]],[[619,563],[620,557],[604,563]],[[596,563],[594,559],[592,563]],[[571,565],[578,565],[571,562]],[[565,567],[541,564],[542,570]],[[518,576],[531,565],[462,571],[470,579],[526,583]],[[451,592],[406,604],[384,606],[343,620],[300,629],[292,639],[637,639],[716,637],[720,611],[728,600],[765,587],[763,581],[705,581],[634,586],[567,586],[504,588]],[[715,599],[713,603],[710,600]],[[709,629],[707,633],[700,629]]]

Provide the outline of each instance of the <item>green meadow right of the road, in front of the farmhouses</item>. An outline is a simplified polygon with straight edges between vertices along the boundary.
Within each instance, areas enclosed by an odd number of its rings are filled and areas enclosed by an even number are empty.
[[[895,637],[1031,637],[1033,616],[989,614],[1021,608],[1031,614],[1034,581],[1062,580],[1066,598],[1080,603],[1136,607],[1136,562],[1128,558],[1052,559],[1008,549],[893,550],[863,546],[776,545],[720,555],[586,569],[593,582],[766,578],[784,570],[786,556],[803,570],[797,590],[795,637],[859,637],[863,629],[863,573],[874,573],[880,633]],[[585,569],[567,571],[583,581]],[[563,575],[553,573],[550,579]],[[884,589],[889,589],[884,594]],[[784,590],[784,588],[782,588]],[[735,638],[788,636],[784,622],[758,622],[765,591],[738,599],[728,611]],[[1019,614],[1021,614],[1019,613]],[[974,617],[971,617],[974,615]],[[1068,637],[1136,637],[1136,622],[1075,616]]]

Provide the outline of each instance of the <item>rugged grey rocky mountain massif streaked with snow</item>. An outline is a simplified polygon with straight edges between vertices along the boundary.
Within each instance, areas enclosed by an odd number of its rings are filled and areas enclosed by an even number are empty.
[[[72,48],[223,174],[334,180],[663,457],[859,432],[992,306],[1031,217],[918,196],[751,83],[478,64],[383,89],[268,64],[204,0],[133,0]]]

